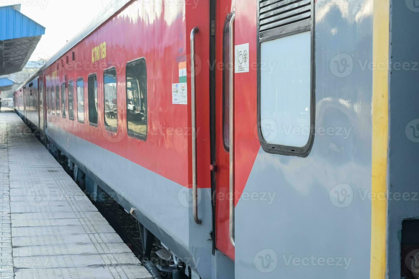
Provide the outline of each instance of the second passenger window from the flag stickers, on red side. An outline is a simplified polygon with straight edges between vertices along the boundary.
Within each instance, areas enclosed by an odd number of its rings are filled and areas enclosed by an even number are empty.
[[[105,101],[105,129],[116,132],[118,129],[118,110],[115,67],[103,72],[103,93]]]

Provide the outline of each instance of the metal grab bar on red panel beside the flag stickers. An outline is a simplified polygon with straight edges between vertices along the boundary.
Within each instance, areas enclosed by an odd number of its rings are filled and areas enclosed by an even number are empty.
[[[198,27],[191,31],[191,117],[192,117],[192,211],[194,221],[198,225],[198,186],[197,186],[197,101],[195,99],[195,34]]]

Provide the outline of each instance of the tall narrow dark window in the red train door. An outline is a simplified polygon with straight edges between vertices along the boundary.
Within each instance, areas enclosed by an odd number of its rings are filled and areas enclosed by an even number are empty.
[[[230,150],[230,21],[233,13],[227,16],[222,38],[222,140],[224,149]]]

